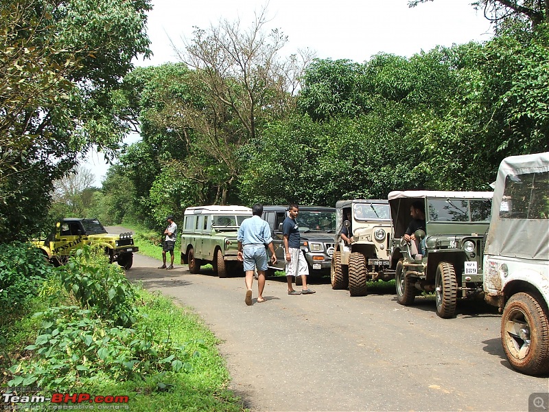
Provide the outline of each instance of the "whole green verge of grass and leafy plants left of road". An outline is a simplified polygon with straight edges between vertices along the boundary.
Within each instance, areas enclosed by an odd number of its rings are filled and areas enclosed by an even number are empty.
[[[32,387],[36,392],[17,394],[45,397],[127,396],[127,404],[108,409],[137,412],[246,410],[227,389],[218,339],[196,314],[141,285],[124,284],[121,268],[108,264],[101,251],[99,258],[84,251],[78,259],[49,268],[24,305],[1,319],[0,387]],[[92,303],[94,293],[77,293],[101,282],[109,296],[100,302]],[[113,314],[128,308],[130,328],[115,326]],[[57,406],[77,409],[71,402]]]

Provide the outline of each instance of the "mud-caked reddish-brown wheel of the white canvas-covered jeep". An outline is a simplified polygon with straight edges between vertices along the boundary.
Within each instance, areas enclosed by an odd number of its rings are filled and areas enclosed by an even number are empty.
[[[502,345],[513,369],[526,375],[549,372],[549,321],[539,301],[517,293],[502,314]]]

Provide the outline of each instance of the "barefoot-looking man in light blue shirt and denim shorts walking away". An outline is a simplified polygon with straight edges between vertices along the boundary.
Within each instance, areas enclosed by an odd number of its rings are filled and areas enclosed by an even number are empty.
[[[272,238],[268,223],[261,219],[263,214],[263,205],[256,203],[252,207],[251,218],[244,219],[244,222],[238,228],[238,255],[237,259],[244,262],[244,271],[246,271],[246,305],[252,304],[252,284],[253,272],[257,267],[257,303],[264,302],[263,290],[265,288],[265,271],[267,270],[267,251],[268,246],[271,253],[272,264],[277,262],[272,247]]]

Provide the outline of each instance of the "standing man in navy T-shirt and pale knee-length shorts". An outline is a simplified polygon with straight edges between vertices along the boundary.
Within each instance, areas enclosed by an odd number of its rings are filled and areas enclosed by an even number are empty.
[[[288,280],[288,295],[308,295],[314,293],[314,290],[307,288],[307,275],[309,275],[309,265],[305,255],[301,252],[301,237],[299,236],[299,226],[296,217],[299,214],[299,206],[296,203],[290,203],[288,207],[288,216],[282,222],[282,234],[284,236],[284,251],[286,253],[286,280]],[[301,293],[294,290],[292,277],[301,276],[303,290]]]

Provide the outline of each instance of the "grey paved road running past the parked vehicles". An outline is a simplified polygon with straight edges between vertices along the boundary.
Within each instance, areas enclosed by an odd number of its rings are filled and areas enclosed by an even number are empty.
[[[500,316],[483,304],[463,302],[456,319],[439,319],[432,299],[404,307],[393,294],[351,298],[329,279],[312,284],[315,295],[288,296],[274,278],[267,301],[257,304],[254,284],[246,306],[242,277],[159,263],[136,255],[127,276],[200,314],[252,411],[528,411],[530,394],[549,392],[548,378],[509,367]]]

